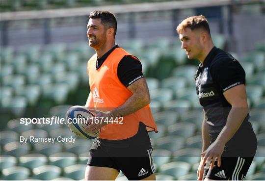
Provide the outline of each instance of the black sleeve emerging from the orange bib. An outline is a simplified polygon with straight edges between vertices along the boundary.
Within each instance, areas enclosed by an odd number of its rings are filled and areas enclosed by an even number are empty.
[[[124,56],[118,64],[117,75],[126,87],[143,78],[142,64],[130,55]]]

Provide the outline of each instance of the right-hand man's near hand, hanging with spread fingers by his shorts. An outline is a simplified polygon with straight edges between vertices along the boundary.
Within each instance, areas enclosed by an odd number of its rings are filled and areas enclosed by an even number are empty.
[[[225,147],[225,144],[214,141],[212,145],[210,145],[206,151],[201,153],[201,155],[203,156],[202,164],[205,165],[206,163],[206,166],[210,165],[210,169],[212,170],[214,166],[214,162],[217,158],[217,165],[218,167],[220,167],[221,166],[221,155],[224,152],[224,147]]]

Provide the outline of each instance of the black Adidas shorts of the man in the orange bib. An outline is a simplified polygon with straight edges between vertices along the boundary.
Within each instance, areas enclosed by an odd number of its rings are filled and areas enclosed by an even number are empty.
[[[155,173],[151,144],[106,145],[95,140],[89,150],[88,166],[120,170],[128,180],[141,180]]]

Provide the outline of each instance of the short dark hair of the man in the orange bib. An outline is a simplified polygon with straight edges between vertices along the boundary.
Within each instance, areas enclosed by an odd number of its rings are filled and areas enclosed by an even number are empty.
[[[116,20],[115,16],[113,15],[113,13],[111,13],[109,11],[93,11],[92,13],[90,13],[89,18],[101,19],[101,24],[105,28],[113,27],[114,28],[114,37],[115,37],[116,32],[117,32],[117,20]]]

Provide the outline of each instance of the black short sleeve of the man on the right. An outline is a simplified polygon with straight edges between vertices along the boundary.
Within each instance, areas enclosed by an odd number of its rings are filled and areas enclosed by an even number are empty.
[[[236,59],[220,59],[211,67],[212,78],[222,92],[245,84],[245,71]]]

